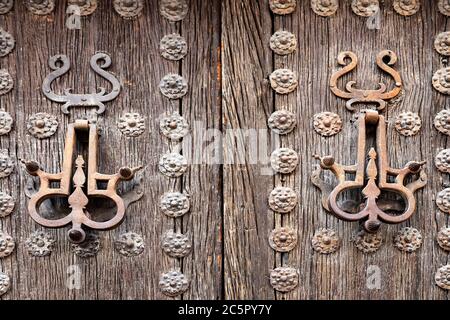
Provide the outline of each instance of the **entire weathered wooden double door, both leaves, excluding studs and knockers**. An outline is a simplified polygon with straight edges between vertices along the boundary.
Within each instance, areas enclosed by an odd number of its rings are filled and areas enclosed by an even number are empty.
[[[104,0],[98,1],[92,15],[81,18],[76,30],[66,27],[66,1],[58,1],[46,16],[33,15],[16,2],[10,13],[0,16],[0,26],[16,39],[14,51],[0,60],[15,81],[13,90],[0,98],[1,108],[14,119],[13,130],[0,136],[0,147],[16,164],[11,176],[0,179],[1,191],[16,200],[15,211],[0,219],[1,230],[16,243],[13,254],[0,259],[0,271],[11,278],[9,292],[0,299],[448,299],[448,291],[434,282],[437,269],[449,262],[448,253],[436,243],[449,218],[434,201],[449,182],[447,174],[433,165],[436,153],[447,147],[446,136],[433,127],[434,116],[447,107],[446,96],[431,84],[433,73],[444,63],[434,50],[434,38],[447,28],[437,1],[422,1],[416,14],[404,17],[394,12],[392,0],[385,0],[379,29],[369,29],[367,19],[352,12],[351,1],[343,0],[328,18],[316,15],[306,0],[297,1],[295,12],[285,16],[274,15],[267,0],[190,0],[188,14],[180,22],[162,17],[157,0],[146,2],[135,20],[122,19],[112,1]],[[270,49],[270,37],[279,29],[297,37],[294,53],[278,56]],[[171,33],[187,41],[188,53],[180,61],[160,55],[160,39]],[[327,213],[310,176],[318,164],[314,154],[332,154],[344,164],[355,160],[354,114],[329,89],[330,76],[340,68],[339,52],[350,50],[359,58],[357,70],[347,80],[375,88],[380,80],[389,81],[374,63],[384,49],[398,55],[395,69],[403,79],[401,99],[383,112],[390,164],[402,167],[411,160],[427,160],[428,184],[416,194],[413,217],[399,225],[383,225],[383,245],[364,254],[351,241],[358,223]],[[49,172],[60,170],[68,124],[94,114],[92,109],[73,108],[65,115],[60,104],[44,97],[42,81],[51,71],[47,61],[66,54],[72,63],[55,91],[92,92],[107,86],[89,68],[98,51],[111,56],[108,70],[122,86],[120,95],[97,117],[102,128],[99,171],[144,165],[138,175],[144,196],[129,207],[118,228],[99,232],[101,249],[83,259],[74,254],[66,228],[42,228],[28,215],[29,176],[19,159],[36,160]],[[288,95],[271,89],[269,75],[279,68],[298,75],[298,88]],[[159,82],[168,73],[178,73],[188,83],[181,100],[160,93]],[[297,127],[278,140],[267,120],[283,108],[296,113]],[[178,150],[160,134],[159,118],[167,111],[178,111],[190,123],[191,141],[196,141],[182,144],[183,154],[198,158],[178,179],[169,179],[158,169],[162,154]],[[313,116],[322,111],[341,117],[340,133],[325,138],[314,131]],[[404,137],[394,129],[394,119],[404,111],[421,117],[422,128],[415,136]],[[27,121],[37,112],[56,116],[59,127],[52,137],[40,140],[28,133]],[[117,121],[126,112],[145,117],[142,135],[129,138],[118,130]],[[285,178],[267,170],[278,142],[296,150],[300,159],[298,168]],[[299,197],[288,215],[274,214],[267,204],[268,194],[279,185],[293,188]],[[159,199],[168,191],[189,194],[188,214],[173,219],[161,212]],[[276,253],[268,244],[269,233],[279,226],[297,232],[297,246],[289,253]],[[405,226],[422,233],[422,247],[414,253],[393,245],[394,235]],[[322,255],[312,249],[314,232],[322,227],[340,237],[337,252]],[[57,240],[51,255],[37,258],[27,253],[26,239],[35,230],[46,230]],[[167,230],[190,234],[189,255],[171,258],[162,251]],[[114,249],[114,240],[127,231],[143,237],[142,254],[125,257]],[[280,293],[271,286],[270,271],[278,266],[299,270],[299,285],[293,291]],[[189,289],[174,298],[159,287],[161,274],[171,269],[180,270],[190,282]],[[80,285],[70,288],[74,270]],[[379,287],[368,286],[370,270],[377,270]]]

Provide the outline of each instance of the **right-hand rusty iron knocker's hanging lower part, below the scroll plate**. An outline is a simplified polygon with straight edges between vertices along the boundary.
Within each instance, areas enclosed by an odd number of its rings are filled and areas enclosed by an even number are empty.
[[[369,126],[376,128],[376,147],[370,148],[366,167],[366,128]],[[414,192],[427,183],[427,176],[422,171],[425,161],[410,161],[401,169],[389,166],[386,123],[384,117],[375,110],[365,110],[359,116],[356,164],[344,166],[338,164],[332,156],[316,158],[320,159],[320,170],[330,170],[338,180],[333,187],[320,179],[320,171],[313,173],[313,184],[323,192],[323,207],[343,220],[365,220],[364,228],[368,232],[376,232],[381,222],[396,224],[409,219],[416,209]],[[355,177],[348,179],[347,174],[354,174]],[[405,185],[405,179],[411,175],[416,175],[415,180]],[[338,196],[358,188],[362,188],[365,204],[356,212],[349,212],[338,204]],[[379,203],[382,191],[394,192],[403,198],[405,209],[401,214],[391,215],[386,211],[389,205]]]

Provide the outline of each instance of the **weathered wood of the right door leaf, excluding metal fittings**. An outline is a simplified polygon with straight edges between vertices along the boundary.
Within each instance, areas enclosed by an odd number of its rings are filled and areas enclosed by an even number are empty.
[[[353,14],[351,1],[340,1],[336,15],[316,16],[309,1],[298,1],[291,15],[270,13],[267,1],[224,1],[223,25],[223,115],[233,127],[266,127],[272,110],[287,108],[297,113],[297,129],[281,138],[281,145],[295,149],[300,165],[285,180],[262,177],[258,168],[225,167],[225,297],[253,299],[274,297],[268,275],[273,266],[290,265],[300,273],[299,287],[277,293],[277,299],[448,299],[448,293],[434,284],[437,268],[449,261],[448,254],[435,241],[437,231],[448,225],[448,215],[439,213],[434,197],[446,175],[438,173],[433,159],[439,148],[448,147],[447,138],[433,128],[434,115],[447,107],[447,98],[433,90],[431,76],[442,66],[433,49],[434,37],[446,31],[447,18],[437,6],[426,3],[419,13],[402,17],[394,13],[392,1],[383,1],[379,30],[369,30],[366,19]],[[239,14],[240,12],[240,14]],[[269,52],[269,37],[285,29],[298,38],[296,53],[280,57]],[[239,33],[239,34],[236,34]],[[255,53],[255,50],[260,50]],[[345,50],[354,51],[358,68],[346,80],[356,80],[363,88],[375,88],[380,80],[391,84],[377,70],[376,54],[390,49],[399,56],[396,69],[404,81],[404,96],[386,113],[389,158],[393,167],[410,160],[427,160],[427,187],[417,193],[418,210],[401,225],[383,226],[384,245],[375,254],[364,255],[351,243],[358,231],[356,223],[343,222],[327,214],[320,205],[320,192],[310,182],[317,165],[313,154],[332,154],[337,161],[351,164],[356,151],[356,128],[345,101],[332,95],[328,81],[339,67],[336,57]],[[273,64],[272,64],[273,61]],[[289,68],[299,76],[299,88],[287,96],[270,93],[267,75],[277,68]],[[332,111],[344,122],[343,131],[331,138],[316,134],[312,127],[315,113]],[[418,112],[423,121],[419,135],[400,136],[393,127],[402,111]],[[268,133],[269,135],[269,133]],[[275,185],[293,187],[300,196],[300,206],[283,218],[268,212],[267,192]],[[248,230],[250,222],[258,226]],[[275,254],[267,243],[273,227],[289,225],[298,230],[299,243],[288,254]],[[413,254],[399,252],[392,238],[403,226],[414,226],[424,235],[423,247]],[[333,228],[342,239],[340,250],[320,255],[311,248],[314,231]],[[238,247],[237,247],[238,246]],[[258,252],[258,258],[252,253]],[[259,263],[255,263],[258,260]],[[266,264],[265,262],[269,263]],[[366,286],[367,268],[381,270],[381,289]],[[251,268],[251,269],[249,269]],[[230,279],[228,279],[230,278]],[[233,280],[231,280],[233,279]]]

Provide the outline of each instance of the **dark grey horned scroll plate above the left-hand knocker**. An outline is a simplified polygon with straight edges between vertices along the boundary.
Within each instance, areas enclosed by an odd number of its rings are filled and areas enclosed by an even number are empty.
[[[99,65],[99,62],[103,62]],[[61,107],[62,112],[69,113],[69,108],[74,106],[98,107],[97,113],[105,111],[103,102],[115,99],[120,93],[120,83],[116,77],[111,73],[105,71],[111,65],[111,57],[106,53],[96,53],[91,57],[91,68],[95,73],[108,80],[112,85],[110,93],[106,94],[106,89],[100,87],[100,91],[90,94],[74,94],[71,89],[65,89],[64,95],[54,93],[51,89],[51,84],[54,80],[66,74],[70,69],[69,58],[65,55],[56,55],[49,59],[50,68],[54,70],[51,72],[42,83],[42,91],[45,96],[55,102],[64,103]]]

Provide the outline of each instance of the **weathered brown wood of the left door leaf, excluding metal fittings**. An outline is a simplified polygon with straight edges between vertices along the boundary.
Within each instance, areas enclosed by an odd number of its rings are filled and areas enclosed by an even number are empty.
[[[44,98],[40,87],[50,71],[47,60],[62,53],[72,62],[70,73],[57,81],[55,90],[71,87],[73,92],[91,92],[108,85],[89,69],[92,54],[106,51],[113,61],[109,71],[119,78],[122,92],[107,103],[107,111],[98,119],[103,128],[99,171],[110,173],[122,165],[146,166],[140,173],[144,181],[143,199],[129,208],[119,228],[99,233],[102,249],[91,259],[81,259],[72,253],[64,229],[50,230],[57,238],[50,257],[29,256],[25,239],[40,227],[26,210],[23,187],[27,174],[18,166],[10,178],[2,179],[2,191],[17,199],[17,210],[0,221],[2,230],[13,235],[17,244],[14,254],[0,261],[0,270],[12,278],[12,288],[2,299],[166,299],[159,290],[159,276],[172,268],[182,269],[192,283],[178,299],[220,297],[220,167],[195,165],[183,179],[175,180],[158,171],[159,157],[174,147],[159,133],[159,118],[164,112],[182,111],[190,123],[200,120],[210,127],[220,123],[220,117],[206,112],[220,108],[220,103],[217,104],[220,83],[217,84],[215,76],[220,59],[218,4],[216,1],[215,5],[206,6],[202,1],[191,1],[186,20],[171,23],[159,14],[156,0],[146,1],[143,15],[133,21],[117,15],[112,1],[99,1],[95,13],[82,18],[80,30],[65,27],[66,1],[58,1],[55,12],[47,17],[32,15],[21,3],[15,5],[13,12],[0,16],[0,25],[16,38],[13,53],[0,61],[1,67],[8,68],[16,81],[14,90],[0,100],[1,107],[15,121],[14,130],[0,137],[1,147],[8,148],[16,159],[37,160],[48,171],[58,171],[67,124],[86,113],[92,115],[92,110],[76,109],[68,117],[60,112],[59,104]],[[173,32],[183,34],[188,41],[189,51],[183,62],[167,61],[159,54],[160,39]],[[165,74],[180,72],[190,91],[181,102],[171,102],[162,96],[158,84]],[[56,115],[60,121],[57,134],[42,141],[28,135],[26,121],[35,112]],[[146,117],[143,135],[127,138],[117,130],[116,121],[125,112],[138,112]],[[210,193],[203,191],[206,184],[214,186]],[[182,188],[191,194],[191,212],[175,222],[159,210],[159,198],[164,192]],[[169,258],[160,246],[163,232],[175,229],[176,223],[182,225],[183,232],[194,235],[194,250],[184,261]],[[114,239],[125,231],[144,237],[143,254],[128,258],[114,250]],[[79,290],[66,287],[71,265],[80,270]]]

